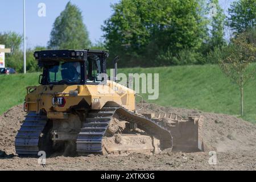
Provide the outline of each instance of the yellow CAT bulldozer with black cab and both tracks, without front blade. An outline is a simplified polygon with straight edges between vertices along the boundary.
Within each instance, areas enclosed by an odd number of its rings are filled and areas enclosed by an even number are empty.
[[[27,88],[27,116],[15,138],[19,156],[159,154],[173,147],[171,127],[137,114],[136,93],[117,83],[118,59],[114,78],[106,76],[108,51],[37,51],[34,56],[43,74],[39,86]]]

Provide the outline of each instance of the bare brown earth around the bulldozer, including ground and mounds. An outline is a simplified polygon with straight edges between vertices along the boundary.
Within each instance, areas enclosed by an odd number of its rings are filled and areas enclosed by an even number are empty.
[[[256,126],[224,114],[144,104],[141,113],[177,113],[203,115],[204,143],[217,151],[217,165],[210,165],[208,152],[129,156],[56,156],[47,159],[47,166],[38,159],[15,156],[14,140],[25,113],[15,106],[0,117],[0,170],[255,170]]]

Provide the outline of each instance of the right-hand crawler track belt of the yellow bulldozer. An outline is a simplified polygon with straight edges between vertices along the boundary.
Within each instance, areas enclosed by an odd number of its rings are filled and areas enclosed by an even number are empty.
[[[162,123],[131,113],[123,107],[105,106],[101,110],[88,113],[76,141],[79,155],[102,153],[102,138],[114,113],[118,113],[119,117],[127,122],[137,123],[139,128],[159,138],[162,149],[172,148],[171,131]]]

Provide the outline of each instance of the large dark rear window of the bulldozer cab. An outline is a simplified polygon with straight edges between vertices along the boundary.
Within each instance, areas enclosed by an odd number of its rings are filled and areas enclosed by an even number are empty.
[[[49,66],[47,82],[49,84],[80,84],[80,62],[58,61],[55,65]]]

